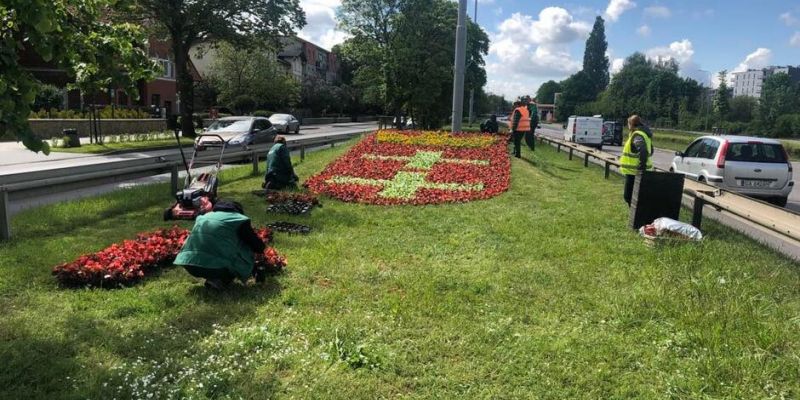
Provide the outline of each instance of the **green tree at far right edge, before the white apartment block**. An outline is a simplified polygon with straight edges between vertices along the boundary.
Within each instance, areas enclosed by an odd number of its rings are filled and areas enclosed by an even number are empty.
[[[761,88],[759,119],[767,130],[773,133],[775,123],[784,115],[800,113],[800,89],[792,85],[789,75],[780,73],[769,76]]]

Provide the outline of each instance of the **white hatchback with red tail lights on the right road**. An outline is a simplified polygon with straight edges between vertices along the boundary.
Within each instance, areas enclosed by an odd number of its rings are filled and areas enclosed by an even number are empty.
[[[670,171],[781,207],[794,188],[786,149],[777,140],[759,137],[699,137],[675,153]]]

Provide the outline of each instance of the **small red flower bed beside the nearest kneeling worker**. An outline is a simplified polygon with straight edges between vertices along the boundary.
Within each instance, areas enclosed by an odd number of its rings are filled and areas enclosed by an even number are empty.
[[[264,243],[272,241],[269,228],[256,233]],[[142,233],[134,240],[124,240],[58,265],[53,268],[53,275],[65,286],[129,286],[160,267],[172,265],[188,236],[188,230],[178,227]],[[268,271],[279,271],[286,266],[286,258],[272,247],[255,258],[256,266]]]

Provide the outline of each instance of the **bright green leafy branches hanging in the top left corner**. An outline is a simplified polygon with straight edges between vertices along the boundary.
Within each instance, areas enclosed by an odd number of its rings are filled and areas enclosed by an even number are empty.
[[[31,51],[66,71],[78,87],[121,87],[154,74],[141,27],[123,22],[127,0],[3,0],[0,3],[0,136],[11,133],[30,150],[48,154],[28,124],[40,88],[20,64]]]

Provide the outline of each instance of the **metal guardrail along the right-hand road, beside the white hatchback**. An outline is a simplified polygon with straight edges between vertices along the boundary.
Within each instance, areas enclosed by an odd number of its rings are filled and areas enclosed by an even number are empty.
[[[542,143],[546,142],[556,147],[557,152],[561,152],[562,148],[568,151],[570,160],[574,157],[574,153],[582,154],[584,167],[589,166],[590,158],[595,159],[604,167],[606,178],[612,171],[611,167],[615,167],[614,172],[619,174],[619,157],[613,154],[561,139],[541,135],[537,138]],[[698,228],[702,221],[703,206],[709,205],[717,211],[728,212],[766,228],[800,246],[800,214],[693,180],[686,180],[683,193],[692,199],[692,224]]]

